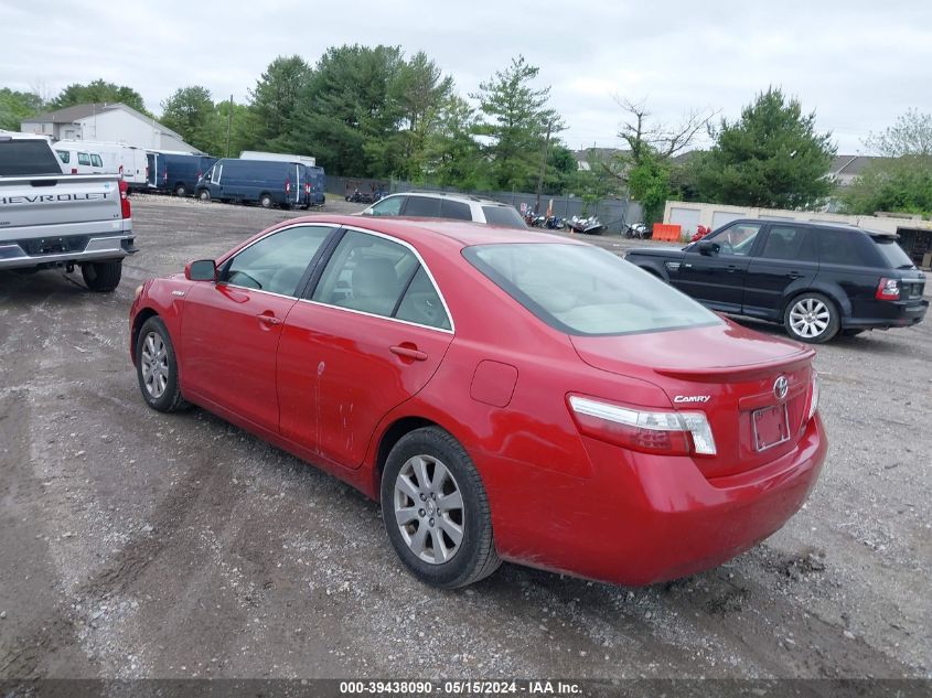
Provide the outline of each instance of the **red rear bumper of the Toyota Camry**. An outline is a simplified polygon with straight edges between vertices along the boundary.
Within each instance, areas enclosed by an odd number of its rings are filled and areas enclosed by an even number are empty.
[[[539,483],[536,514],[522,524],[502,520],[493,497],[496,545],[523,565],[623,586],[716,567],[780,529],[805,502],[828,448],[816,417],[786,455],[709,480],[687,458],[586,445],[594,476]]]

